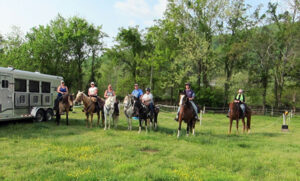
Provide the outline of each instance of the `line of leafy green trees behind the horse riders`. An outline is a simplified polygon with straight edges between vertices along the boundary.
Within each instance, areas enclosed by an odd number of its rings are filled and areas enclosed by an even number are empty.
[[[61,75],[73,92],[96,81],[120,96],[134,83],[150,87],[158,101],[177,104],[192,84],[196,102],[227,106],[239,88],[246,102],[300,106],[300,1],[250,7],[244,0],[169,0],[153,26],[120,28],[112,47],[107,36],[77,16],[58,15],[25,36],[0,36],[0,66]]]

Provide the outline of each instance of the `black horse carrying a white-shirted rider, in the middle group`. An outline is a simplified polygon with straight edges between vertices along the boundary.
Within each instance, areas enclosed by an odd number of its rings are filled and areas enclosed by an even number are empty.
[[[145,121],[146,132],[148,131],[147,124],[149,124],[150,122],[152,124],[154,124],[155,129],[157,128],[157,117],[158,117],[158,113],[159,113],[158,107],[154,107],[154,113],[152,115],[150,109],[146,105],[142,104],[140,99],[134,97],[133,109],[134,109],[134,116],[139,117],[139,133],[142,130],[142,121],[143,120]]]

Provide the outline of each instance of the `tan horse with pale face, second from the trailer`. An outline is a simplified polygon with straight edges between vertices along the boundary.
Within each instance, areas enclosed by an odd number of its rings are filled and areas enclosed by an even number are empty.
[[[96,109],[96,103],[92,100],[92,98],[85,95],[83,92],[78,91],[75,99],[76,102],[83,102],[84,105],[84,112],[86,115],[86,127],[88,128],[88,122],[90,123],[90,128],[93,127],[93,114],[96,113],[98,116],[97,120],[97,126],[99,126],[100,122],[100,111],[102,112],[102,125],[104,125],[104,115],[103,115],[103,106],[104,106],[104,100],[99,98],[98,103],[100,108]],[[89,116],[91,118],[89,119]]]

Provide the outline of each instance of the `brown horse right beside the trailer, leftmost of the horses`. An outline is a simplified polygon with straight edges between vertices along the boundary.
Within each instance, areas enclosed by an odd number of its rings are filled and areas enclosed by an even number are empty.
[[[66,113],[66,124],[69,125],[69,111],[70,108],[73,106],[73,95],[66,94],[63,95],[61,100],[58,103],[58,108],[56,110],[56,124],[59,125],[60,123],[60,115],[64,112]]]

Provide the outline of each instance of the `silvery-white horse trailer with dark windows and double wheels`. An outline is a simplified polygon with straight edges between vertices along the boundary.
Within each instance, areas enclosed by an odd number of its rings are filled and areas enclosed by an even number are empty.
[[[0,121],[51,120],[61,80],[59,76],[0,67]]]

